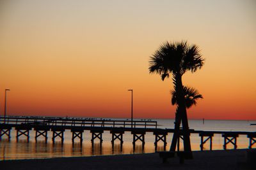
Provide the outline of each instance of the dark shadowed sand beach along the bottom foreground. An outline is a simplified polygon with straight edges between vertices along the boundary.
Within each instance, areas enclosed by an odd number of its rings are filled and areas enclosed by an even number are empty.
[[[250,169],[246,150],[193,152],[193,156],[193,160],[185,160],[184,164],[179,164],[178,157],[163,164],[158,153],[4,160],[0,161],[0,169]]]

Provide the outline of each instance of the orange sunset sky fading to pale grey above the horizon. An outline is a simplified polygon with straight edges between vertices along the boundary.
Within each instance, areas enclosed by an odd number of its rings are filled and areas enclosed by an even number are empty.
[[[256,1],[0,1],[0,113],[174,118],[172,79],[149,74],[166,41],[198,45],[182,77],[190,119],[256,120]]]

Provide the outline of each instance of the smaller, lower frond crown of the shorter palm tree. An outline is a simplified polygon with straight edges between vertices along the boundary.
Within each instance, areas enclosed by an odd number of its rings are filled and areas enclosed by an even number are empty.
[[[197,99],[203,99],[203,96],[199,94],[198,90],[192,87],[183,87],[184,98],[186,103],[186,108],[191,108],[191,106],[196,105]],[[172,105],[177,104],[177,92],[175,90],[171,91],[172,94]]]

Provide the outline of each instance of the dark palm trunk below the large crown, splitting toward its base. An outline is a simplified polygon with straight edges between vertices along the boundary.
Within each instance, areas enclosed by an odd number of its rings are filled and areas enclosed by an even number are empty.
[[[179,138],[179,127],[182,120],[182,130],[183,130],[183,140],[184,140],[184,151],[191,153],[189,158],[192,158],[190,138],[189,138],[189,126],[188,126],[188,116],[186,111],[186,104],[182,85],[181,74],[175,74],[173,76],[175,90],[177,92],[177,114],[175,117],[175,131],[173,133],[173,141],[170,150],[175,151],[177,145],[177,139]]]

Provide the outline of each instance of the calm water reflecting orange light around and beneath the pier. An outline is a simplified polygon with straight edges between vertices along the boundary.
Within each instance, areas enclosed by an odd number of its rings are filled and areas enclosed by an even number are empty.
[[[118,119],[114,119],[118,120]],[[140,120],[140,119],[138,119]],[[152,119],[156,120],[159,128],[174,128],[174,120],[168,119]],[[203,131],[248,131],[255,132],[256,121],[243,121],[243,120],[205,120],[204,124],[202,120],[189,120],[190,129],[203,130]],[[27,143],[26,138],[20,136],[19,142],[16,142],[16,131],[12,129],[12,138],[9,142],[6,136],[0,141],[0,160],[10,159],[36,159],[36,158],[52,158],[52,157],[79,157],[79,156],[92,156],[92,155],[111,155],[111,154],[127,154],[127,153],[151,153],[154,150],[155,137],[151,132],[147,132],[145,135],[145,150],[142,151],[141,143],[136,142],[136,149],[133,152],[132,149],[132,134],[131,132],[125,132],[124,145],[122,152],[120,151],[120,145],[116,141],[114,150],[111,148],[111,134],[109,131],[105,131],[103,136],[102,149],[96,141],[94,149],[92,150],[91,134],[90,131],[84,131],[83,133],[83,145],[81,146],[78,139],[74,145],[72,145],[72,133],[65,131],[64,144],[61,145],[60,139],[56,138],[56,143],[53,145],[51,141],[51,132],[48,134],[48,143],[44,143],[44,138],[38,138],[38,142],[35,143],[35,131],[30,131],[30,140]],[[173,134],[167,136],[167,150],[170,148],[170,143]],[[41,140],[41,141],[40,141]],[[180,141],[182,142],[182,141]],[[214,150],[223,149],[223,138],[221,134],[214,134],[212,141],[212,148]],[[237,138],[238,148],[248,148],[249,139],[245,135],[240,135]],[[198,134],[191,134],[192,150],[200,150],[200,137]],[[180,144],[182,150],[182,143]],[[205,150],[209,149],[208,143],[204,145]],[[255,146],[254,146],[255,147]],[[227,148],[232,148],[229,145]],[[163,150],[163,143],[158,143],[157,150]]]

